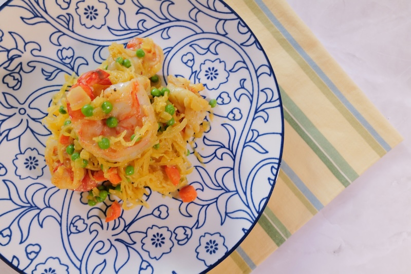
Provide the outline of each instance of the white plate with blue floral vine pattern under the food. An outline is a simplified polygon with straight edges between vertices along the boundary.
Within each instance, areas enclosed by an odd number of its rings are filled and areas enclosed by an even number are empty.
[[[64,74],[96,68],[112,42],[151,36],[163,75],[216,98],[191,156],[190,204],[150,193],[105,223],[106,204],[50,183],[41,121]],[[162,80],[164,81],[164,79]],[[263,49],[218,0],[12,0],[0,10],[0,254],[22,273],[207,272],[244,240],[274,187],[282,105]]]

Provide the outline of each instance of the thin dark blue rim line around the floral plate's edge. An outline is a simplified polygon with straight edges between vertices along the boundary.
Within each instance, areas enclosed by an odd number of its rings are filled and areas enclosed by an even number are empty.
[[[13,1],[13,0],[7,0],[2,6],[0,6],[0,11],[2,11],[2,9],[3,9],[4,7],[6,7],[8,4],[10,4],[12,1]],[[245,26],[247,27],[247,29],[250,31],[251,35],[253,35],[253,37],[254,37],[254,39],[255,39],[255,43],[258,43],[258,45],[261,47],[261,52],[263,52],[263,54],[264,54],[264,56],[265,56],[265,58],[266,58],[266,60],[267,60],[267,63],[268,63],[268,65],[269,65],[269,67],[270,67],[270,71],[271,71],[271,73],[272,73],[272,76],[274,77],[275,87],[277,88],[278,99],[279,99],[279,102],[280,102],[279,107],[280,107],[280,110],[281,110],[281,120],[282,120],[281,148],[280,148],[280,152],[279,152],[279,156],[278,156],[278,159],[279,159],[279,160],[278,160],[278,168],[277,168],[277,172],[275,173],[275,179],[274,179],[274,182],[276,182],[276,181],[277,181],[277,178],[278,178],[279,169],[281,168],[281,163],[282,163],[282,160],[283,160],[283,150],[284,150],[284,110],[283,110],[283,101],[282,101],[282,99],[281,99],[281,93],[280,93],[280,91],[279,91],[279,87],[278,87],[278,83],[277,83],[277,78],[275,77],[274,70],[273,70],[273,68],[272,68],[272,66],[271,66],[270,60],[268,59],[268,56],[267,56],[266,52],[265,52],[264,48],[261,46],[261,44],[259,43],[257,37],[254,35],[254,32],[250,29],[250,27],[247,25],[247,23],[244,22],[244,20],[238,15],[238,13],[235,12],[224,0],[219,0],[219,1],[220,1],[226,8],[228,8],[233,14],[235,14],[235,15],[237,16],[237,18],[238,18],[242,23],[244,23],[244,25],[245,25]],[[222,261],[224,261],[227,257],[229,257],[229,256],[231,255],[231,253],[232,253],[235,249],[237,249],[237,247],[247,238],[248,234],[251,232],[251,230],[254,228],[254,226],[257,224],[259,218],[260,218],[261,215],[263,214],[263,212],[264,212],[264,210],[265,210],[265,208],[266,208],[266,206],[267,206],[267,204],[268,204],[268,201],[269,201],[270,198],[271,198],[271,194],[272,194],[272,192],[273,192],[273,190],[274,190],[274,187],[275,187],[275,183],[273,184],[273,186],[272,186],[272,188],[271,188],[271,190],[270,190],[270,192],[269,192],[269,194],[268,194],[268,196],[267,196],[267,201],[265,202],[265,204],[264,204],[263,207],[261,208],[261,211],[259,212],[259,214],[258,214],[257,218],[255,219],[254,223],[250,226],[250,228],[247,230],[247,232],[244,234],[244,236],[237,242],[237,244],[235,244],[229,251],[227,251],[226,254],[225,254],[223,257],[221,257],[217,262],[215,262],[214,264],[212,264],[211,266],[209,266],[207,269],[203,270],[203,271],[200,272],[199,274],[205,274],[205,273],[207,273],[208,271],[210,271],[210,270],[212,270],[213,268],[215,268],[215,267],[216,267],[217,265],[219,265]],[[16,266],[14,266],[10,261],[8,261],[1,253],[0,253],[0,259],[1,259],[3,262],[5,262],[8,266],[10,266],[11,268],[13,268],[15,271],[17,271],[18,273],[20,273],[20,274],[26,274],[25,272],[23,272],[23,270],[18,269],[18,268],[17,268]]]

